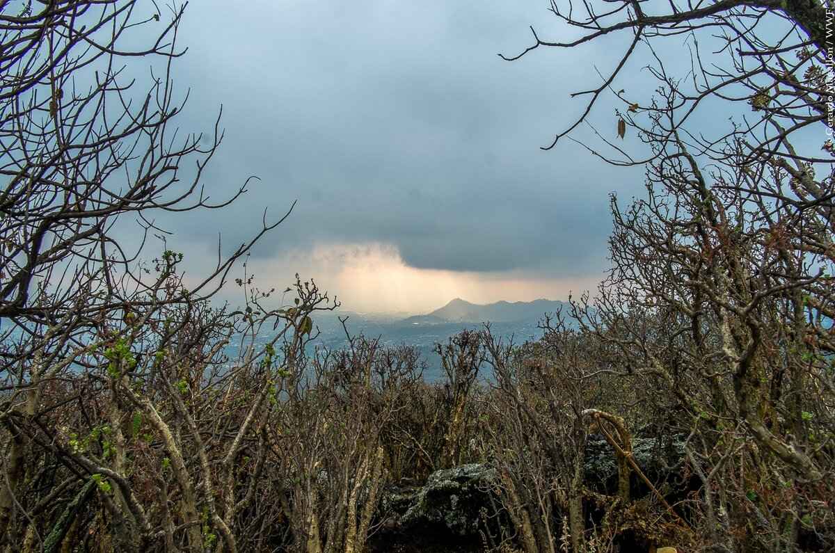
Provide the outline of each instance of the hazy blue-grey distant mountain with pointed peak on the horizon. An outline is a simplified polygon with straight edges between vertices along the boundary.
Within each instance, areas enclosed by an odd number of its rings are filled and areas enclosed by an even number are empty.
[[[565,302],[534,300],[533,302],[495,302],[487,305],[465,302],[456,297],[447,305],[426,315],[408,317],[411,324],[443,324],[446,322],[519,322],[539,320],[545,313],[559,311]]]

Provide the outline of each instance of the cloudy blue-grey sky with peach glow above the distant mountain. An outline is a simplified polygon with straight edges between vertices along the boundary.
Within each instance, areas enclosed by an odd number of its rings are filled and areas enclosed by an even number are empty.
[[[175,86],[187,131],[225,139],[206,170],[221,211],[159,216],[187,277],[231,251],[261,217],[291,216],[252,251],[259,287],[298,272],[361,312],[428,312],[471,302],[565,299],[608,266],[609,195],[640,194],[642,173],[605,165],[569,140],[543,151],[584,109],[628,37],[574,50],[531,42],[568,31],[529,2],[248,0],[190,3]],[[625,86],[651,79],[640,67]],[[631,80],[630,80],[631,79]],[[623,87],[622,87],[623,88]],[[611,99],[590,119],[615,136]],[[578,138],[590,138],[581,128]],[[626,142],[629,143],[630,137]],[[240,272],[240,271],[239,271]],[[235,289],[222,292],[233,302]],[[240,299],[240,298],[239,298]]]

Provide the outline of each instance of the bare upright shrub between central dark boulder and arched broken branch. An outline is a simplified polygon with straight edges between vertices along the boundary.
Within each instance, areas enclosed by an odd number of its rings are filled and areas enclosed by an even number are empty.
[[[541,340],[521,348],[486,331],[496,378],[491,454],[524,550],[556,551],[565,535],[571,550],[582,551],[598,538],[586,535],[583,514],[584,417],[597,356],[594,343],[570,330],[562,313],[546,318],[543,328]]]

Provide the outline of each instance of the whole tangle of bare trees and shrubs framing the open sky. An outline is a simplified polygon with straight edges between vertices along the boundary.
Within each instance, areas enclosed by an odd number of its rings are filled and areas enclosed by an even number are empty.
[[[588,35],[534,34],[523,55],[630,33],[588,93],[590,109],[604,93],[622,104],[620,138],[602,139],[619,157],[590,150],[644,167],[645,195],[612,197],[599,290],[544,317],[534,342],[485,325],[439,343],[444,378],[427,383],[414,348],[349,327],[347,348],[312,348],[317,315],[338,306],[313,280],[276,307],[275,290],[234,278],[286,216],[219,246],[200,279],[154,238],[159,214],[220,209],[249,182],[210,202],[218,124],[171,127],[182,6],[0,0],[0,548],[352,553],[387,530],[392,486],[468,463],[494,474],[485,548],[835,548],[825,7],[583,6],[587,19],[552,8]],[[134,28],[159,38],[126,49]],[[725,65],[702,62],[702,34]],[[655,48],[683,37],[676,78]],[[645,99],[613,84],[636,45],[658,81]],[[150,60],[147,89],[123,74],[128,58]],[[744,113],[706,138],[688,129],[703,100]],[[214,301],[222,286],[244,304]],[[615,460],[612,485],[584,475],[592,436]],[[665,469],[650,472],[639,437],[684,456],[659,448]]]

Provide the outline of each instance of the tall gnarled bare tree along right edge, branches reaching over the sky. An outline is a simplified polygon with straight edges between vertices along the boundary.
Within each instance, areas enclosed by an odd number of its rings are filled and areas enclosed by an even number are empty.
[[[612,198],[613,269],[586,322],[620,352],[623,373],[675,398],[671,419],[690,435],[703,483],[694,505],[706,514],[696,519],[702,545],[716,550],[792,550],[802,534],[832,545],[826,9],[817,0],[554,2],[579,38],[534,32],[520,54],[630,39],[600,86],[574,94],[590,97],[586,109],[547,148],[589,123],[606,94],[622,106],[616,134],[645,145],[630,152],[595,129],[602,144],[586,146],[612,164],[645,167],[647,186],[627,208]],[[642,53],[658,87],[630,98],[618,81]],[[730,121],[719,131],[700,124],[723,115]]]

